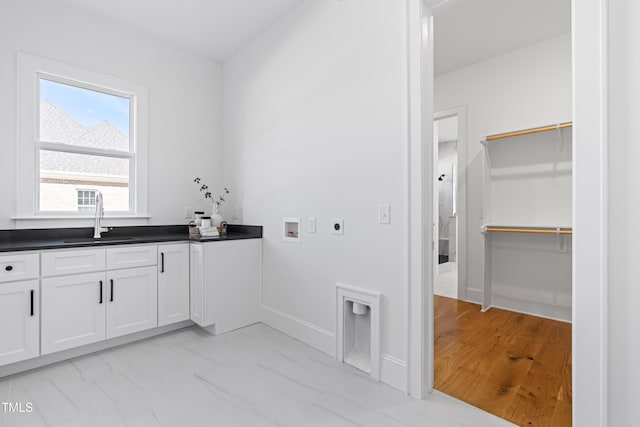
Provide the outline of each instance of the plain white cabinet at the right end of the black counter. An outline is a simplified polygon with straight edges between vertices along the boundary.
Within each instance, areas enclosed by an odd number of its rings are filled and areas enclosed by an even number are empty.
[[[191,243],[191,320],[215,333],[260,321],[262,239]]]

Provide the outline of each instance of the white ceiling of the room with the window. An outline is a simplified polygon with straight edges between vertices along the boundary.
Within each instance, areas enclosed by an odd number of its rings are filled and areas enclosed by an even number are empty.
[[[224,61],[304,0],[57,0]]]

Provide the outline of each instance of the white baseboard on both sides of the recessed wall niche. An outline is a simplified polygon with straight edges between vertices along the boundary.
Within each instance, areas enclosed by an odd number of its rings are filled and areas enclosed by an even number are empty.
[[[336,357],[336,336],[333,332],[264,304],[261,306],[260,314],[262,323],[331,357]],[[407,363],[388,354],[381,354],[380,381],[406,392]]]

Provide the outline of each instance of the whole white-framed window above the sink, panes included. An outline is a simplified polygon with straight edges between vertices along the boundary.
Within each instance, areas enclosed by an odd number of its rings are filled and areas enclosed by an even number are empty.
[[[146,89],[20,53],[18,218],[146,216]]]

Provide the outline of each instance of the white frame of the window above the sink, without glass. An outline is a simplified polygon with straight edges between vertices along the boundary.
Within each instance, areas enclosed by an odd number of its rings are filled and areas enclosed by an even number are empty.
[[[69,147],[39,141],[40,79],[71,84],[131,100],[129,152]],[[93,217],[87,212],[40,212],[40,149],[81,154],[110,154],[129,158],[129,212],[107,212],[107,218],[148,218],[147,213],[147,109],[145,86],[72,65],[18,52],[18,147],[16,220],[51,220]],[[62,150],[61,150],[62,148]],[[109,153],[106,153],[109,151]],[[28,195],[32,195],[29,197]]]

